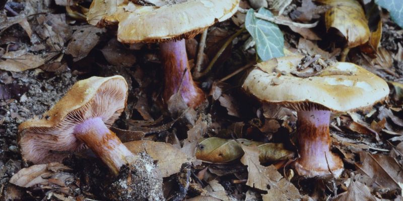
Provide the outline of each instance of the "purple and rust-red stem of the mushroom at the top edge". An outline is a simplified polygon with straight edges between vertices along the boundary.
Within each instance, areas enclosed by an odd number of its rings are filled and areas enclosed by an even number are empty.
[[[169,98],[179,90],[187,106],[195,108],[203,103],[205,95],[196,86],[190,74],[185,40],[161,43],[160,50],[165,73],[163,94],[165,102],[168,102]]]

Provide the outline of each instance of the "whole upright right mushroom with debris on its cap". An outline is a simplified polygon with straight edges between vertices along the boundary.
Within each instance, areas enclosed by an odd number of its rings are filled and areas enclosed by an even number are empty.
[[[330,113],[371,107],[389,93],[387,83],[364,68],[317,56],[286,56],[259,63],[243,88],[263,102],[297,111],[300,158],[295,169],[307,177],[331,173],[339,177],[343,171],[342,160],[329,150]]]

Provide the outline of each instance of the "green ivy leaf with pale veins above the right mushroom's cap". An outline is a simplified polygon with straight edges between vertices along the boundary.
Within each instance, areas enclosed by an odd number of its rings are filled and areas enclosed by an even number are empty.
[[[258,14],[273,17],[273,14],[264,8],[261,8]],[[256,42],[256,52],[261,60],[284,56],[284,37],[276,24],[256,18],[254,10],[249,9],[245,27]]]

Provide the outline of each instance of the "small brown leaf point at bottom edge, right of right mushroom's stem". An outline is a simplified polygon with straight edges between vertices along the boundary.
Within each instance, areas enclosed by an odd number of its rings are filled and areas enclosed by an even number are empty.
[[[378,200],[371,194],[371,190],[368,186],[358,181],[350,179],[350,185],[347,192],[342,193],[335,199],[337,201],[376,201]]]

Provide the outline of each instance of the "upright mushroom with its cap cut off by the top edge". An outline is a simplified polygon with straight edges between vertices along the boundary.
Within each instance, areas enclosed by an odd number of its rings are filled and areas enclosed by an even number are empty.
[[[99,27],[118,24],[117,39],[122,43],[160,43],[165,102],[179,91],[187,106],[195,108],[203,103],[205,95],[190,73],[185,39],[230,18],[239,0],[121,2],[116,5],[116,1],[94,0],[88,22]]]

